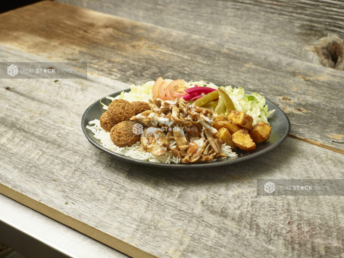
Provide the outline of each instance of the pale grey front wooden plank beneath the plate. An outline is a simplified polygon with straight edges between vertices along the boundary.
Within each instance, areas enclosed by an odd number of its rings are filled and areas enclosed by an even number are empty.
[[[230,168],[122,162],[89,144],[80,128],[95,98],[127,87],[101,78],[0,80],[1,193],[133,257],[343,255],[343,196],[256,193],[257,179],[343,180],[343,155],[288,137]]]

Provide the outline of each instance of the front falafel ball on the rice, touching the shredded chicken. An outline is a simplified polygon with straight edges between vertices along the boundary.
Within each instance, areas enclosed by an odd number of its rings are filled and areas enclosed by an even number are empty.
[[[112,127],[110,137],[113,143],[118,147],[131,146],[140,140],[140,135],[136,135],[132,131],[133,121],[122,121]]]

